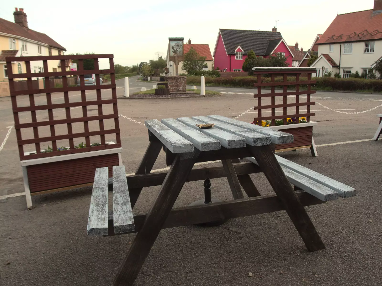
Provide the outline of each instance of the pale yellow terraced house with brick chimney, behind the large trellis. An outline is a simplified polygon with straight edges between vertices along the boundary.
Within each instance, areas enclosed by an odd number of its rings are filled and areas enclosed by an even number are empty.
[[[7,56],[50,56],[63,55],[66,49],[44,33],[29,29],[23,8],[13,12],[15,22],[0,18],[0,82],[8,81],[5,58]],[[60,71],[58,61],[48,61],[48,69]],[[24,73],[24,62],[12,63],[13,72]],[[31,72],[42,72],[42,61],[31,61]]]

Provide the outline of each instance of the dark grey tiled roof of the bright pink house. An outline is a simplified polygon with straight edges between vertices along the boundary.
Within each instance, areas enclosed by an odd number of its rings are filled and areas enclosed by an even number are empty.
[[[235,55],[235,49],[240,46],[244,55],[248,55],[248,52],[253,50],[257,56],[266,56],[268,55],[266,51],[269,47],[269,40],[282,38],[280,32],[231,29],[220,29],[219,31],[228,55]]]

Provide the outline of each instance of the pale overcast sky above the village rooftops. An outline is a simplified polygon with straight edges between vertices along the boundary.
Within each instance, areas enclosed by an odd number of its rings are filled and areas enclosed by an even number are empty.
[[[298,4],[299,3],[299,4]],[[324,1],[3,1],[0,18],[24,8],[30,29],[49,35],[65,54],[113,53],[133,65],[167,52],[168,37],[191,38],[214,52],[219,28],[272,31],[277,22],[288,45],[308,50],[339,14],[373,8],[374,0]],[[105,68],[102,67],[101,68]]]

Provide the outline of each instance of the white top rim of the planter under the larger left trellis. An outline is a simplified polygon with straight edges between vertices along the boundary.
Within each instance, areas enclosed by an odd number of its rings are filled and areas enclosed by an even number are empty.
[[[45,164],[50,162],[59,162],[59,161],[94,157],[94,156],[121,153],[121,152],[122,152],[122,148],[113,148],[113,149],[97,150],[97,151],[90,151],[90,152],[84,152],[84,153],[75,153],[75,154],[67,154],[67,155],[54,156],[54,157],[23,160],[23,161],[20,161],[20,163],[21,163],[21,166],[30,166],[30,165]]]

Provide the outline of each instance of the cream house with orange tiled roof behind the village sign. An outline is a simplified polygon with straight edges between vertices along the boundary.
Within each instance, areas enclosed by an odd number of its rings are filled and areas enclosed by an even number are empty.
[[[205,71],[212,71],[212,66],[213,66],[213,59],[210,51],[210,47],[208,44],[192,44],[191,40],[188,40],[188,43],[185,43],[183,45],[183,53],[186,54],[189,52],[189,50],[193,48],[196,50],[196,52],[199,54],[199,56],[205,56],[206,57],[206,66],[204,66],[203,70]],[[167,61],[167,67],[169,70],[169,76],[175,76],[175,63],[173,61],[170,61],[170,45],[168,45],[167,48],[167,56],[166,56],[166,61]],[[182,69],[183,67],[183,61],[180,61],[178,63],[178,73],[179,74],[186,74],[185,71]]]

